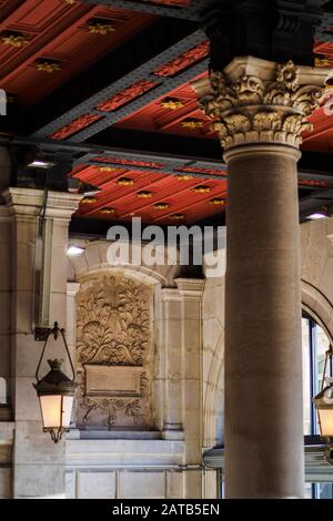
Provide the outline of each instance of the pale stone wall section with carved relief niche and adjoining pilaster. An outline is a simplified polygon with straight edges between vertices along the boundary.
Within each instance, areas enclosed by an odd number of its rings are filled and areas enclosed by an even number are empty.
[[[167,264],[112,265],[102,241],[83,246],[84,254],[70,259],[68,272],[68,340],[83,395],[79,391],[73,429],[67,437],[67,494],[201,498],[203,280],[181,278],[179,267]],[[91,323],[108,335],[104,347],[93,345],[100,339],[95,331],[94,340],[89,339]],[[95,400],[88,396],[87,362],[94,365],[97,378],[100,371],[104,382],[107,370],[144,372],[145,388],[139,385],[137,397],[125,397],[129,375],[119,375],[117,398],[111,389],[114,377],[101,396],[104,410],[92,410],[91,421],[88,417],[84,422],[82,409],[87,413]],[[141,421],[122,412],[124,402],[133,399]],[[113,421],[108,421],[110,408]]]

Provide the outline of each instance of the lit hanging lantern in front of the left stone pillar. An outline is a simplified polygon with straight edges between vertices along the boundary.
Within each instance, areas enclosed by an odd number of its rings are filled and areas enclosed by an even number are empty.
[[[60,370],[63,359],[57,358],[54,360],[48,360],[51,370],[43,378],[39,379],[38,372],[49,338],[53,335],[54,340],[57,340],[59,338],[59,334],[63,340],[65,351],[70,360],[72,379]],[[74,367],[65,341],[64,329],[60,329],[56,321],[54,327],[47,330],[46,343],[36,371],[37,384],[33,384],[37,396],[40,400],[43,431],[50,432],[51,438],[56,443],[61,440],[63,432],[69,431],[73,398],[78,386],[74,381]]]

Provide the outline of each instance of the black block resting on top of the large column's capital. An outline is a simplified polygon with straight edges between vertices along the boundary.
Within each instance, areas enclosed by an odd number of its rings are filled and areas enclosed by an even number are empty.
[[[313,65],[322,0],[220,0],[202,22],[211,40],[211,67],[220,70],[236,55]]]

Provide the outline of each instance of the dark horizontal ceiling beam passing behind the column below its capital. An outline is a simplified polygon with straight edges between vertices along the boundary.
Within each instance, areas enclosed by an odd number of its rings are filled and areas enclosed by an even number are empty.
[[[130,135],[132,135],[132,131]],[[137,135],[137,134],[135,134]],[[165,136],[168,137],[168,135]],[[123,149],[123,146],[107,146],[92,143],[83,144],[72,144],[68,142],[54,142],[51,140],[38,140],[33,137],[14,137],[10,139],[8,136],[0,136],[0,145],[17,147],[17,149],[32,149],[36,151],[36,155],[39,157],[44,157],[47,160],[54,160],[56,157],[69,157],[72,159],[73,166],[85,164],[85,165],[97,165],[97,166],[114,166],[114,167],[127,167],[125,165],[120,164],[117,160],[125,160],[129,163],[135,163],[138,161],[147,162],[148,166],[144,167],[147,171],[160,172],[170,175],[180,174],[176,172],[182,167],[195,167],[202,170],[218,170],[224,171],[226,168],[225,163],[222,159],[221,147],[218,141],[215,140],[200,140],[200,139],[189,139],[182,136],[170,135],[175,142],[180,141],[180,153],[175,154],[174,152],[154,152],[151,147],[145,146],[145,149]],[[152,137],[149,136],[145,145],[149,144]],[[158,140],[155,140],[158,141]],[[163,140],[164,141],[164,135]],[[122,141],[123,143],[137,144],[135,139]],[[201,145],[215,144],[218,154],[216,156],[205,156],[203,155]],[[170,150],[170,144],[168,146]],[[100,159],[107,160],[100,161]],[[112,161],[115,160],[115,161]],[[165,165],[163,168],[157,168],[154,166],[149,166],[149,163],[162,163]],[[128,166],[131,170],[142,171],[142,167],[135,166],[134,164],[129,164]],[[190,173],[190,172],[189,172]],[[205,173],[191,173],[193,176],[208,177],[212,178],[214,175]],[[306,181],[317,181],[323,183],[333,183],[333,172],[332,172],[332,154],[315,153],[304,151],[302,159],[299,163],[299,177]],[[221,175],[218,175],[216,178],[221,178]],[[304,186],[307,188],[307,186]],[[310,186],[310,190],[313,190],[313,186]]]

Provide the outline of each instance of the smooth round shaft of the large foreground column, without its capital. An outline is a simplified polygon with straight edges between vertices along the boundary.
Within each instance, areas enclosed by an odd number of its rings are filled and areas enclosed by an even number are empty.
[[[226,154],[229,498],[303,494],[299,155],[274,144]]]

